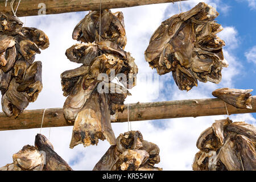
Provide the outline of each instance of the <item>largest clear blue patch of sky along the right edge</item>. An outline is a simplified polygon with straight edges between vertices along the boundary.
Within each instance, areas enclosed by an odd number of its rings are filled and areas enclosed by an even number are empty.
[[[255,1],[254,1],[255,2]],[[235,50],[237,60],[243,65],[243,72],[234,77],[236,88],[254,89],[256,94],[256,65],[246,60],[245,52],[256,45],[256,8],[249,7],[246,1],[225,1],[229,6],[226,14],[220,14],[216,20],[222,26],[233,26],[238,31],[238,47]],[[256,116],[254,114],[254,116]]]

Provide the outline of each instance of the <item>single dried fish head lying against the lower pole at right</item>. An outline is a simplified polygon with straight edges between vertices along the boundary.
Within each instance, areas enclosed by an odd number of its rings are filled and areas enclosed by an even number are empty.
[[[221,88],[216,89],[212,92],[214,97],[218,97],[226,103],[233,105],[238,108],[252,109],[251,102],[252,98],[250,97],[253,89],[230,89],[230,88]]]

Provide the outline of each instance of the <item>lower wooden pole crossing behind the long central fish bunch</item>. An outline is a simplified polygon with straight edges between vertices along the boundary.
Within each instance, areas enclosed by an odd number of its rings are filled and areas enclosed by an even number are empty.
[[[256,113],[256,96],[253,96],[253,109],[238,109],[226,104],[229,114]],[[25,110],[18,118],[6,117],[0,113],[1,130],[40,128],[44,109]],[[180,101],[148,102],[129,104],[129,120],[143,121],[152,119],[199,117],[226,114],[224,101],[218,98],[193,99]],[[127,122],[127,105],[123,113],[118,113],[117,122]],[[66,121],[61,108],[47,109],[43,127],[72,126]]]

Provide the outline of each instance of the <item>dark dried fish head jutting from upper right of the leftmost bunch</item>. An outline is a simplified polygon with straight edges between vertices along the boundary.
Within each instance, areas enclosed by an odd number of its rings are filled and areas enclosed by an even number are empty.
[[[49,47],[49,38],[42,30],[38,28],[22,27],[21,32],[40,49],[44,50]]]

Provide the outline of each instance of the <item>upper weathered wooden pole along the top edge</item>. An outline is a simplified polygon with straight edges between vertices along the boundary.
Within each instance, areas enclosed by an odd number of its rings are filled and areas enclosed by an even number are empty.
[[[34,16],[41,15],[42,8],[46,8],[46,14],[60,14],[69,13],[75,11],[89,11],[99,10],[101,1],[101,9],[114,9],[121,7],[132,7],[141,5],[151,5],[157,3],[170,3],[177,2],[180,0],[22,0],[16,13],[17,16]],[[187,0],[181,0],[187,1]],[[0,1],[0,11],[8,11],[11,13],[10,2],[6,0]],[[19,0],[14,3],[14,10],[18,5]]]

